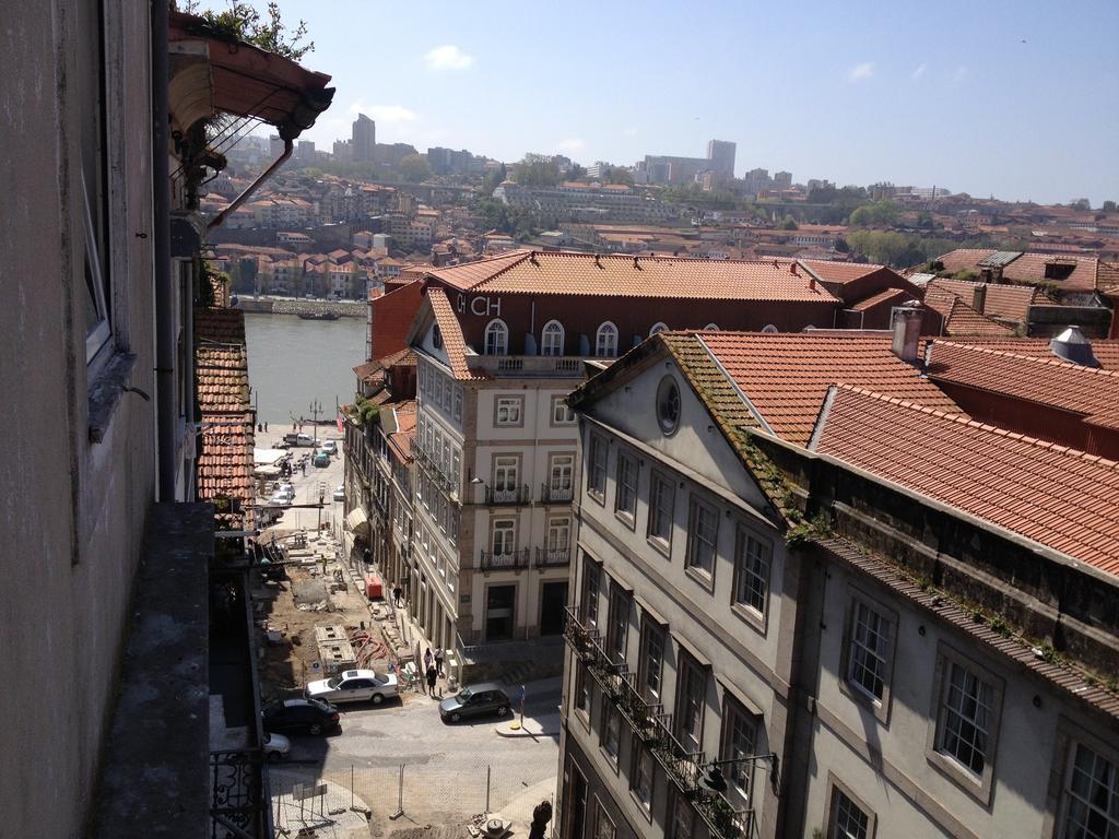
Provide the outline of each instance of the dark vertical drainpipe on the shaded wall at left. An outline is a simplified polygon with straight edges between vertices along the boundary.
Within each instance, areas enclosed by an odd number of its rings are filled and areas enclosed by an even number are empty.
[[[175,500],[175,280],[171,276],[171,172],[168,83],[170,3],[151,3],[152,229],[156,280],[156,428],[158,500]],[[184,303],[187,304],[186,302]]]

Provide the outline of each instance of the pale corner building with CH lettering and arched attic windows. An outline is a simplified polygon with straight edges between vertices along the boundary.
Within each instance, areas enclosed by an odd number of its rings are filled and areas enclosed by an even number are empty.
[[[577,442],[563,398],[587,359],[685,324],[799,330],[838,304],[788,264],[525,251],[429,271],[423,294],[408,594],[467,662],[563,629]]]

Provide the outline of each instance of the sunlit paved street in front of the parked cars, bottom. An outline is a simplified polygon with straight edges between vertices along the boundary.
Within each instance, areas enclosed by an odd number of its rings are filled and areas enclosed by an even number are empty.
[[[527,819],[555,791],[558,737],[547,735],[560,727],[560,680],[527,687],[526,728],[542,736],[500,736],[508,718],[444,725],[436,700],[417,694],[380,707],[344,705],[341,733],[292,737],[291,760],[273,770],[273,792],[319,780],[352,789],[373,810],[373,836],[462,823],[483,811]],[[516,688],[507,690],[516,697]],[[402,764],[404,816],[391,820]]]

